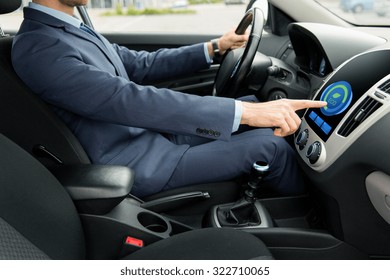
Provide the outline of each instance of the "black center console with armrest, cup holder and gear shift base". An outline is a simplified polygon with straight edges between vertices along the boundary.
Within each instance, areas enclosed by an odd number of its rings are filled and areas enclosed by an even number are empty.
[[[129,195],[134,174],[128,168],[60,166],[52,172],[77,206],[88,259],[121,258],[161,239],[195,229],[179,222],[177,217],[144,207],[154,203],[144,203]],[[249,181],[241,200],[213,206],[204,215],[202,227],[247,231],[261,239],[277,259],[333,258],[335,254],[348,258],[360,256],[329,233],[301,222],[307,220],[310,211],[305,197],[256,199],[258,189],[250,185],[261,183],[263,172],[262,169]],[[297,219],[300,216],[303,218]]]

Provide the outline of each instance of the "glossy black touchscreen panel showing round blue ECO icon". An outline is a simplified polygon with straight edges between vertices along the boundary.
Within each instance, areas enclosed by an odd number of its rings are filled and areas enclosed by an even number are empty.
[[[390,50],[367,52],[336,70],[322,87],[316,100],[328,103],[308,109],[307,124],[326,142],[353,104],[373,85],[390,73]]]

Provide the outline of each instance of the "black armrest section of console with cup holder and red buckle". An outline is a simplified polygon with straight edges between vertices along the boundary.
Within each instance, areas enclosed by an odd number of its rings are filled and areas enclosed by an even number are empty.
[[[88,259],[117,259],[158,240],[192,230],[143,207],[143,201],[129,195],[134,173],[127,167],[58,165],[51,172],[78,210]],[[190,193],[189,197],[193,198],[194,194]]]

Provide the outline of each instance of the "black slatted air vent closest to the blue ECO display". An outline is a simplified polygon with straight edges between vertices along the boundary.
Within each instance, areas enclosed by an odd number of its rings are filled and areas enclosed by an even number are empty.
[[[353,111],[353,113],[348,117],[345,123],[339,130],[341,136],[347,137],[357,128],[365,119],[367,119],[372,113],[376,111],[382,103],[376,101],[375,99],[367,96],[363,102]]]

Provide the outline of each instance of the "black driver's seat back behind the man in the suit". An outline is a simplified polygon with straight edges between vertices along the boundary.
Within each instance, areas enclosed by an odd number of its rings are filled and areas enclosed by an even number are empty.
[[[42,146],[64,164],[90,163],[69,128],[15,73],[11,63],[12,39],[0,38],[0,133],[38,156],[46,166],[56,161],[42,157],[48,154]]]

